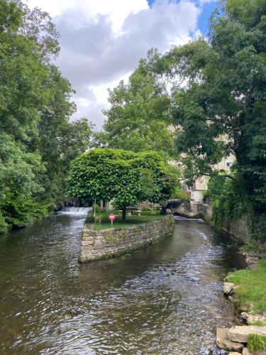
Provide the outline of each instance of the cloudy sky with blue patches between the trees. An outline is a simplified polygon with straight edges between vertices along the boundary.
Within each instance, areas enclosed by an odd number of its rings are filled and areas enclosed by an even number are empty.
[[[208,33],[215,0],[27,0],[47,11],[60,33],[56,60],[76,91],[77,112],[101,129],[107,89],[128,80],[150,48],[160,53]]]

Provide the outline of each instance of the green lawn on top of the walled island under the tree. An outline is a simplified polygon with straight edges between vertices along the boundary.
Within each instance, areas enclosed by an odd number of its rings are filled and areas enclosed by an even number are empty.
[[[93,213],[93,212],[92,212]],[[141,224],[155,221],[155,219],[161,219],[164,217],[162,214],[151,214],[150,211],[142,211],[141,216],[138,216],[136,212],[133,211],[132,216],[126,216],[126,223],[122,223],[122,216],[119,216],[119,212],[116,210],[106,211],[106,212],[98,212],[96,213],[97,217],[101,217],[101,225],[94,225],[94,229],[109,229],[111,228],[111,222],[108,219],[110,213],[116,214],[116,220],[113,221],[113,228],[121,229],[126,226],[133,226],[134,224]],[[87,218],[88,223],[94,224],[92,214],[89,214]]]

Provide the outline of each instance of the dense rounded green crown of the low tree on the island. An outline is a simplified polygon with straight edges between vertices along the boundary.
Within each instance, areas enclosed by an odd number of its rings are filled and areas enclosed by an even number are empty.
[[[118,207],[146,200],[165,202],[176,179],[170,171],[157,153],[96,148],[72,161],[69,194],[82,202],[94,197],[113,200]]]

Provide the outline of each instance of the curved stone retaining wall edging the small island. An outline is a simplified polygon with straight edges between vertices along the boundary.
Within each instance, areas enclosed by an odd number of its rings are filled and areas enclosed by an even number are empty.
[[[85,223],[79,262],[109,258],[139,249],[172,233],[173,226],[172,215],[123,229],[111,228],[96,231],[92,229],[91,224]]]

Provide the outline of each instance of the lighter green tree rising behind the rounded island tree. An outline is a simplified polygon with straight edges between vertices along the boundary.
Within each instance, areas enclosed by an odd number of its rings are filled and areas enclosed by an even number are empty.
[[[153,65],[158,58],[150,50],[140,60],[128,84],[123,81],[109,90],[111,108],[104,110],[104,131],[95,133],[94,147],[121,148],[126,151],[160,151],[173,153],[173,133],[167,119],[170,100],[158,95]]]

